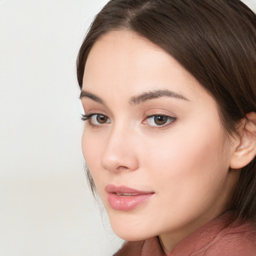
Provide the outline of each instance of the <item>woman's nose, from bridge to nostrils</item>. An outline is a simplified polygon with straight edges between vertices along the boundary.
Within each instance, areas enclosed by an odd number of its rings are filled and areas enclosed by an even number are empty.
[[[134,131],[112,129],[100,159],[101,166],[113,172],[133,171],[139,166]]]

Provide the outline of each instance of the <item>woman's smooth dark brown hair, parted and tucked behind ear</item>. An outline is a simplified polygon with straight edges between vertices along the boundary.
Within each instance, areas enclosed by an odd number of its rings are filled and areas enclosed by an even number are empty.
[[[130,30],[157,44],[216,100],[227,134],[256,111],[256,15],[240,0],[110,0],[96,15],[77,57],[80,88],[94,42]],[[255,159],[242,168],[231,198],[236,217],[256,221]],[[89,184],[94,182],[87,170]]]

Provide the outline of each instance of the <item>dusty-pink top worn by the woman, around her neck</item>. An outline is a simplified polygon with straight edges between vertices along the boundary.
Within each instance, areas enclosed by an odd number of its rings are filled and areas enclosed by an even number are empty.
[[[158,237],[128,241],[114,256],[166,256]],[[181,240],[169,256],[256,256],[256,227],[226,212]]]

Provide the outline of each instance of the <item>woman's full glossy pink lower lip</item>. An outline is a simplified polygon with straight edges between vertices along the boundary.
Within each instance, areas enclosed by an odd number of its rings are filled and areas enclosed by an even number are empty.
[[[113,209],[131,210],[147,201],[153,193],[138,195],[117,195],[116,193],[108,193],[108,202]]]

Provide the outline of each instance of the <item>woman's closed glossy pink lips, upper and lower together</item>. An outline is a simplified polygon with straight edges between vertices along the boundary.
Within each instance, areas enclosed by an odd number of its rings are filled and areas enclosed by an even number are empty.
[[[107,199],[112,208],[116,210],[131,210],[148,200],[154,193],[139,191],[126,186],[108,184],[105,187]]]

